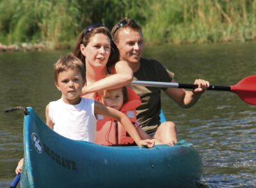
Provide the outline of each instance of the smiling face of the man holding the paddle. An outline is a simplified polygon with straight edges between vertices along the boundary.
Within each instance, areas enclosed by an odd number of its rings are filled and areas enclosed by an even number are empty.
[[[143,35],[141,31],[121,28],[118,31],[116,46],[120,52],[120,59],[128,63],[139,63],[143,52]]]

